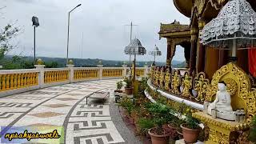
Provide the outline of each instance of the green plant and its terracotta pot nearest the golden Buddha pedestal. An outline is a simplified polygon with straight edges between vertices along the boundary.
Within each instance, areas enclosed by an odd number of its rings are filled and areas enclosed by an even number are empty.
[[[199,136],[199,121],[196,118],[192,117],[192,114],[187,114],[186,123],[183,123],[181,125],[182,128],[182,134],[184,141],[187,143],[194,143],[198,141],[198,136]]]

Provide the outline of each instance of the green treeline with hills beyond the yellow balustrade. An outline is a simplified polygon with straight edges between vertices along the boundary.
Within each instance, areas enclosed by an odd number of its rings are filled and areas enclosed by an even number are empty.
[[[38,57],[41,58],[46,65],[46,68],[58,68],[66,67],[66,58],[48,58],[48,57]],[[129,65],[129,61],[111,61],[103,59],[81,59],[81,58],[72,58],[74,66],[76,67],[96,67],[98,64],[102,64],[105,67],[121,67],[123,64]],[[184,62],[174,61],[174,67],[182,67]],[[136,66],[150,66],[152,62],[136,62]],[[157,66],[165,66],[166,62],[156,62]],[[20,57],[20,56],[11,56],[6,55],[0,62],[0,66],[6,70],[13,69],[32,69],[34,68],[34,58],[32,57]],[[185,65],[184,65],[185,66]]]

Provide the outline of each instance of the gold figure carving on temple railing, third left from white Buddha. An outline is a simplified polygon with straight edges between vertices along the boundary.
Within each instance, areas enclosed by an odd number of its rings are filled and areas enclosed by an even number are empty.
[[[174,94],[180,94],[179,86],[180,86],[180,72],[179,70],[174,70],[174,74],[172,74],[171,79],[171,92]]]

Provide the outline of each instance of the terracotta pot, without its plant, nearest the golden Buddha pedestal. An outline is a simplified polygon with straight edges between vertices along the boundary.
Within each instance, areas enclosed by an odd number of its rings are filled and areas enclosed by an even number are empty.
[[[184,141],[187,143],[198,142],[198,136],[200,129],[189,129],[186,127],[186,124],[182,124],[182,134]]]

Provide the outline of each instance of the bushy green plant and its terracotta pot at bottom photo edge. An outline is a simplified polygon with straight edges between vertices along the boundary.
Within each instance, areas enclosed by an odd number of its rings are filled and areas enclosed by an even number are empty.
[[[153,115],[154,128],[149,130],[152,144],[167,144],[170,135],[163,128],[171,117],[174,117],[168,106],[163,106],[161,103],[154,103],[149,106],[149,111]]]

